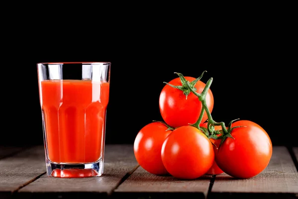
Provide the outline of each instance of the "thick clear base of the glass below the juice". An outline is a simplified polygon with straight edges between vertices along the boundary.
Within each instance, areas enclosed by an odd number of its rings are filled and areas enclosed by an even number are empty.
[[[58,164],[46,158],[47,176],[57,178],[88,178],[103,174],[103,160],[86,164]]]

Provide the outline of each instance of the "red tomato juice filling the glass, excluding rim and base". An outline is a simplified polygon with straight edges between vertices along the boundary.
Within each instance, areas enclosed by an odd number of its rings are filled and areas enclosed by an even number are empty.
[[[53,163],[92,163],[103,158],[109,83],[40,82],[45,145]]]

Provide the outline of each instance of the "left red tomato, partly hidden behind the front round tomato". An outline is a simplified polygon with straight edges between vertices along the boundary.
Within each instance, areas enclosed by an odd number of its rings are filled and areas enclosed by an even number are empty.
[[[162,122],[152,122],[144,126],[134,142],[134,153],[139,165],[151,174],[168,174],[161,161],[161,147],[172,132]]]

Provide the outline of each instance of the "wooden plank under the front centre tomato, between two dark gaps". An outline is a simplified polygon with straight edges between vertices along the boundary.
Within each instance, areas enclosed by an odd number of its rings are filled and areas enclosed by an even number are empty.
[[[156,176],[139,167],[113,193],[115,198],[173,198],[204,199],[207,196],[212,176],[196,180],[178,180],[171,176]]]

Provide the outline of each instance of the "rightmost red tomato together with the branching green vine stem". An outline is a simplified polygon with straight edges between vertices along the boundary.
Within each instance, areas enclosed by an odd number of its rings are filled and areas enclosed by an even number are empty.
[[[187,88],[202,102],[203,108],[208,115],[207,130],[203,130],[208,138],[215,139],[218,152],[215,153],[215,161],[224,173],[234,178],[251,178],[261,173],[269,164],[272,156],[272,143],[267,132],[257,123],[249,120],[230,121],[228,127],[224,122],[216,122],[211,116],[206,102],[206,89],[209,89],[213,79],[210,78],[202,94],[197,93],[189,82]],[[202,119],[192,124],[198,127]],[[221,126],[219,131],[211,126]],[[200,128],[200,127],[198,127]]]

